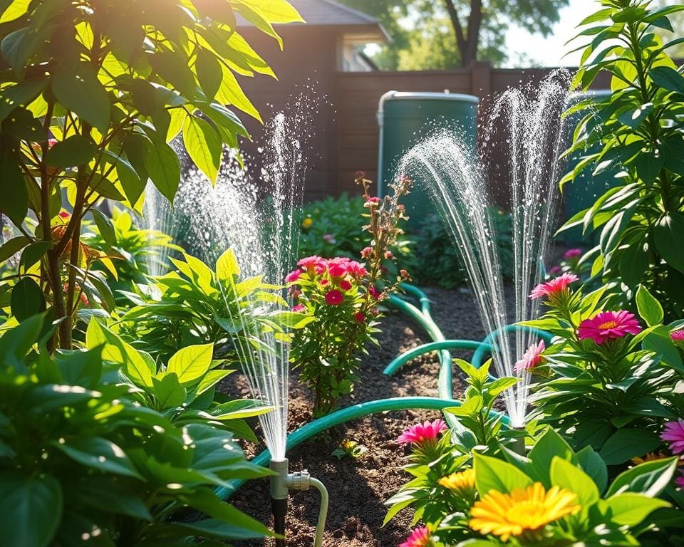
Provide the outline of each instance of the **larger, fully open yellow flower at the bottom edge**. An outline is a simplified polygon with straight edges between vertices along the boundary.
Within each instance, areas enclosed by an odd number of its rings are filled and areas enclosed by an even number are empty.
[[[510,494],[490,490],[470,510],[468,526],[484,535],[493,533],[507,541],[510,536],[523,536],[544,528],[549,522],[576,513],[577,495],[553,486],[547,492],[541,482],[519,488]]]

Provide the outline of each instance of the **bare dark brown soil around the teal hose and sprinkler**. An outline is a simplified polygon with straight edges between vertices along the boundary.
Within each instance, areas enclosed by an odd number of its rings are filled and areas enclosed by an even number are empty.
[[[477,318],[472,295],[467,291],[426,289],[434,301],[432,316],[447,338],[481,340],[484,329]],[[417,324],[400,313],[388,313],[383,320],[379,347],[369,348],[363,362],[361,382],[342,406],[358,402],[402,397],[405,395],[437,396],[439,361],[436,354],[425,355],[400,370],[395,377],[382,374],[383,368],[400,353],[429,342],[427,334]],[[470,355],[457,355],[468,358]],[[244,378],[229,377],[223,385],[232,395],[246,396]],[[462,392],[455,378],[454,392]],[[311,476],[321,479],[330,493],[330,508],[324,545],[326,547],[395,546],[405,540],[411,526],[413,511],[405,509],[381,528],[387,507],[383,502],[395,494],[409,475],[400,467],[405,464],[404,449],[394,439],[419,420],[432,420],[439,413],[427,410],[385,412],[348,422],[325,436],[311,439],[289,451],[291,471],[308,469]],[[291,375],[289,401],[289,431],[311,421],[311,397],[306,387]],[[258,427],[255,427],[258,429]],[[258,431],[257,431],[258,434]],[[332,455],[343,439],[363,444],[368,452],[358,459]],[[246,447],[254,454],[263,447]],[[260,521],[272,525],[268,480],[250,481],[232,497],[232,503]],[[294,492],[290,498],[287,519],[287,544],[308,547],[314,544],[318,493],[315,490]],[[271,546],[272,540],[238,542],[236,546]]]

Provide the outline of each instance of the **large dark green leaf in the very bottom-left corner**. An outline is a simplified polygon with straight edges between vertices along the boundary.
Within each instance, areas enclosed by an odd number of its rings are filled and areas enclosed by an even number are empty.
[[[0,529],[7,546],[47,547],[62,518],[62,489],[51,476],[0,474]]]

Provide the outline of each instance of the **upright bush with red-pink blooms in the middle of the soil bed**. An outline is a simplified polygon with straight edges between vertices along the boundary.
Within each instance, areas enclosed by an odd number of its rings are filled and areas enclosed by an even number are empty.
[[[398,289],[408,278],[401,271],[393,280],[383,264],[393,261],[390,249],[402,230],[400,198],[408,193],[408,180],[393,184],[393,196],[383,199],[368,193],[371,182],[361,181],[368,209],[371,243],[361,251],[366,266],[346,257],[322,259],[309,256],[299,261],[299,268],[287,276],[294,294],[294,311],[306,321],[296,330],[291,346],[291,360],[301,370],[301,380],[314,392],[314,415],[335,409],[341,395],[350,393],[361,365],[361,352],[367,343],[375,343],[378,332],[378,301]],[[378,288],[378,286],[380,286]]]

